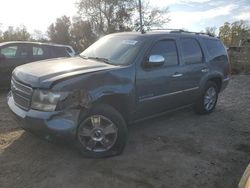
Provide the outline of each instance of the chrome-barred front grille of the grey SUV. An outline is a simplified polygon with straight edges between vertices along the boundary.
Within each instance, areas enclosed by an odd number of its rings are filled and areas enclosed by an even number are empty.
[[[24,110],[29,110],[33,94],[33,89],[31,87],[26,86],[12,78],[11,93],[17,106]]]

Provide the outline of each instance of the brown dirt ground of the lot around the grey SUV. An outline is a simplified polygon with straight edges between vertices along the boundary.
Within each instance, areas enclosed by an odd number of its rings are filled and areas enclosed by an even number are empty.
[[[0,94],[0,187],[235,188],[250,161],[250,76],[235,76],[214,113],[191,109],[130,126],[121,156],[84,159],[12,121]]]

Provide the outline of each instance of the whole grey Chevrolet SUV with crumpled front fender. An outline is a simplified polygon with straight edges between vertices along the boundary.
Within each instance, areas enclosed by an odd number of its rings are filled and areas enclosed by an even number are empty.
[[[112,34],[43,63],[13,71],[8,105],[24,129],[89,157],[120,154],[129,123],[190,105],[211,113],[230,72],[218,38],[182,30]]]

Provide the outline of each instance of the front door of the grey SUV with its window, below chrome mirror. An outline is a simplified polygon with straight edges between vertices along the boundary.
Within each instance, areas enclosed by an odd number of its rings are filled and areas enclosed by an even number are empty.
[[[179,94],[185,87],[183,68],[180,65],[176,41],[164,39],[157,41],[146,55],[146,61],[151,55],[161,55],[165,63],[159,67],[137,69],[136,118],[160,113],[181,105]]]

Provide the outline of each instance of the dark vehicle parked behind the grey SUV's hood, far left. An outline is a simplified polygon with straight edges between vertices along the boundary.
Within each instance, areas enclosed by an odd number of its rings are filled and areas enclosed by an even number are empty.
[[[72,57],[71,46],[39,42],[0,43],[0,88],[10,86],[12,71],[20,65],[58,57]]]

